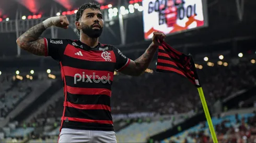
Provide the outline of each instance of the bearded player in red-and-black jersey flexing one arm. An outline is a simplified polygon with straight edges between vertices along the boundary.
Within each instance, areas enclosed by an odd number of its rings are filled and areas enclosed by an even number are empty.
[[[141,75],[158,48],[158,40],[166,36],[154,32],[145,53],[132,61],[118,48],[99,43],[104,25],[99,5],[80,6],[75,24],[79,40],[40,38],[51,26],[68,28],[67,17],[57,16],[30,28],[17,44],[34,55],[51,56],[60,64],[65,99],[59,142],[117,142],[110,112],[114,70]]]

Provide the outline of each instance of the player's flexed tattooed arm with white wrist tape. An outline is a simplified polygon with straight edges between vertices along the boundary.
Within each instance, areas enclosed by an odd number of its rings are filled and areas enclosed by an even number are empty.
[[[44,20],[42,23],[35,25],[28,31],[23,33],[18,39],[17,44],[20,48],[29,51],[38,56],[45,55],[44,39],[40,38],[41,34],[47,28],[55,25],[56,27],[68,28],[68,20],[66,16],[51,17]]]

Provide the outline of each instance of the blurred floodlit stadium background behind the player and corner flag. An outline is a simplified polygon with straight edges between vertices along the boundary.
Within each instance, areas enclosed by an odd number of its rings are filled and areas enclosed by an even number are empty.
[[[132,60],[150,44],[155,23],[147,20],[166,22],[165,41],[193,55],[218,142],[256,142],[254,1],[168,0],[172,8],[164,13],[150,7],[155,0],[90,2],[99,3],[104,15],[100,42],[117,46]],[[42,36],[76,39],[73,23],[83,3],[0,1],[0,142],[57,142],[64,101],[59,65],[21,50],[15,41],[33,25],[59,15],[67,16],[70,27]],[[188,12],[189,5],[201,11],[181,17],[180,10]],[[159,23],[153,30],[161,30]],[[118,142],[213,142],[196,87],[180,75],[155,72],[156,59],[141,76],[114,74],[111,113]]]

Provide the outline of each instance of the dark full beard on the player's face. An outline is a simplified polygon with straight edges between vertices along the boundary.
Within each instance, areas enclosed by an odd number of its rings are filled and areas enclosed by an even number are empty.
[[[89,26],[84,23],[81,23],[81,24],[82,24],[82,31],[91,38],[98,38],[102,33],[102,30],[103,30],[102,27],[100,29],[92,29],[92,25]]]

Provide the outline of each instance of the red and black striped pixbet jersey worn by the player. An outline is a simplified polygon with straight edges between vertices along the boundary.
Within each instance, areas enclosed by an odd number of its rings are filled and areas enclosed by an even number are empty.
[[[65,96],[61,128],[114,131],[110,107],[114,70],[125,68],[130,59],[112,45],[89,47],[80,41],[47,38],[44,43],[45,56],[61,66]]]

